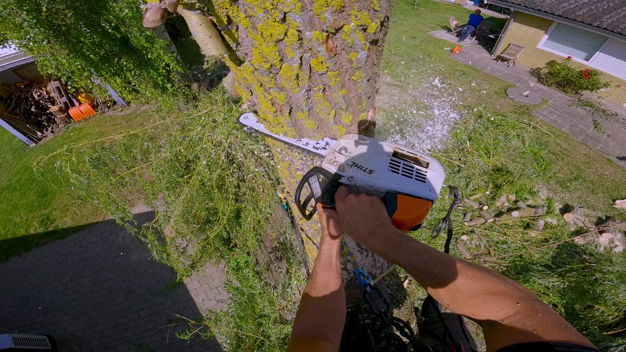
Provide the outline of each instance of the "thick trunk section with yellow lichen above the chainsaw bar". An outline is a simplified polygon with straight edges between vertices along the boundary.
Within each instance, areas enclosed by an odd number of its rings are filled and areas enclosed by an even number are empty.
[[[341,137],[373,119],[393,0],[215,0],[240,96],[271,132]]]

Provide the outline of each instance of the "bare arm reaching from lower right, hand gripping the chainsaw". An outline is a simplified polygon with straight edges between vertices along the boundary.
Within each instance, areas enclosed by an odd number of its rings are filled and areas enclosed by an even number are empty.
[[[473,319],[488,351],[552,341],[593,346],[558,313],[517,282],[437,251],[396,229],[376,197],[337,190],[337,210],[325,210],[347,234],[402,267],[439,303]]]

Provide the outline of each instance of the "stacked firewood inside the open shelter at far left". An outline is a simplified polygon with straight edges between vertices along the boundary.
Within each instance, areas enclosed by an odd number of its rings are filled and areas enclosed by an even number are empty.
[[[41,141],[53,135],[58,128],[70,122],[67,111],[46,83],[34,83],[13,88],[13,93],[2,102],[0,117],[16,130]]]

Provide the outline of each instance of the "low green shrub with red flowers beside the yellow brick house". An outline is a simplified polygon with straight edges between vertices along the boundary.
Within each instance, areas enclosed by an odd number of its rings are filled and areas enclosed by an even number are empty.
[[[600,71],[589,68],[580,70],[572,65],[571,57],[563,61],[548,61],[541,69],[540,77],[544,85],[556,87],[568,94],[608,87],[608,83],[602,80]]]

